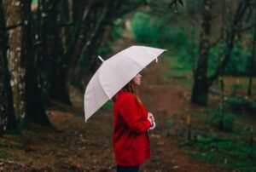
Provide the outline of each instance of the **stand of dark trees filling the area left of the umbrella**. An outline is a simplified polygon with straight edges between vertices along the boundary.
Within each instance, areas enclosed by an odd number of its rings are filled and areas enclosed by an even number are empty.
[[[141,3],[1,0],[1,134],[26,122],[49,125],[50,100],[71,105],[69,83],[84,89],[106,29]]]

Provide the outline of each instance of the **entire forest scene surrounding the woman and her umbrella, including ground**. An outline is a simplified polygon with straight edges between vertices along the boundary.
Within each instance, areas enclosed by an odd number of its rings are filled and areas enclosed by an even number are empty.
[[[132,45],[154,113],[141,171],[256,171],[254,0],[0,0],[0,171],[115,171],[113,102],[84,91]]]

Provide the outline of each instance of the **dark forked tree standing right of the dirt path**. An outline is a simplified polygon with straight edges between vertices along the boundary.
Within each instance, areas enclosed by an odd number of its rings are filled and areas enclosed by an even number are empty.
[[[206,3],[207,0],[204,2]],[[239,24],[242,21],[244,15],[249,9],[251,1],[250,0],[241,0],[237,4],[236,13],[232,16],[230,28],[226,29],[226,52],[224,57],[218,63],[215,71],[211,76],[207,76],[207,58],[208,58],[208,49],[209,42],[208,40],[204,40],[205,31],[204,27],[208,26],[207,20],[205,20],[205,24],[201,25],[201,43],[200,43],[200,57],[197,62],[197,68],[194,73],[194,85],[192,90],[191,102],[198,105],[207,105],[207,94],[208,89],[211,87],[212,83],[218,78],[219,74],[224,70],[225,66],[227,66],[230,60],[230,54],[232,52],[235,37],[237,32],[239,32]],[[203,14],[204,16],[204,14]],[[210,35],[208,35],[209,37]],[[204,42],[204,43],[203,43]]]

